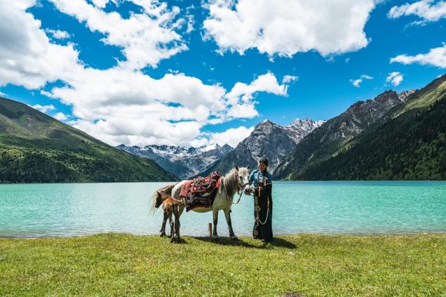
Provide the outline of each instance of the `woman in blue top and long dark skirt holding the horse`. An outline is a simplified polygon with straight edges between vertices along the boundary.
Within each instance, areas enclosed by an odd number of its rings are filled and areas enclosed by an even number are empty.
[[[254,229],[252,236],[261,239],[267,246],[272,241],[272,179],[268,172],[268,160],[259,160],[258,169],[249,175],[249,184],[254,183]],[[249,194],[249,193],[248,193]]]

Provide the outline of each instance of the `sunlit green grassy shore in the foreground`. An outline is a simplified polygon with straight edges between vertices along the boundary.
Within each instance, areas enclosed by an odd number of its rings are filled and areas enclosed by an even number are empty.
[[[0,296],[439,296],[446,235],[0,238]]]

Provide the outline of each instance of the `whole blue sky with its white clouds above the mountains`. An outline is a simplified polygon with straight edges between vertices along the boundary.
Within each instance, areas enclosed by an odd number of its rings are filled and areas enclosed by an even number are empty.
[[[445,1],[3,6],[3,96],[112,145],[235,146],[264,119],[330,119],[446,68]]]

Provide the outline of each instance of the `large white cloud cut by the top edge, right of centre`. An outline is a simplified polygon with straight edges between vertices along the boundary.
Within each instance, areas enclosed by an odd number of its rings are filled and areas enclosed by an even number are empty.
[[[205,39],[220,52],[256,48],[269,56],[316,50],[323,56],[367,46],[364,25],[373,0],[214,0],[205,4]]]

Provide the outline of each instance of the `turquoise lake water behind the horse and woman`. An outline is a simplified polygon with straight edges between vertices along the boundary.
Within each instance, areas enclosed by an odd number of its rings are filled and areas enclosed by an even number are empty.
[[[162,213],[148,197],[167,183],[0,185],[0,236],[72,236],[100,232],[158,234]],[[275,182],[275,234],[446,233],[446,182]],[[233,228],[251,236],[252,197],[233,205]],[[212,213],[181,217],[181,234],[206,236]],[[224,213],[218,231],[228,236]]]

